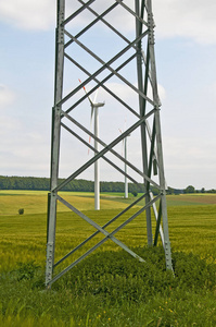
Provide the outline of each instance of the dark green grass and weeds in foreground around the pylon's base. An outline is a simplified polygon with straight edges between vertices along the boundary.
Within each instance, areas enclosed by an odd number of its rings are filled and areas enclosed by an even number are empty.
[[[1,326],[215,326],[215,264],[174,253],[174,277],[161,247],[135,251],[147,263],[123,251],[101,252],[51,291],[34,262],[17,265],[1,275]]]

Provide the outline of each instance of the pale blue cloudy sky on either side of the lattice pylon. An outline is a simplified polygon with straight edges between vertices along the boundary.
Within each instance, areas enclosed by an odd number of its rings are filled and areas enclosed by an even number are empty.
[[[153,10],[167,184],[216,189],[216,2],[154,0]],[[49,177],[54,27],[53,0],[0,1],[2,175]],[[69,165],[62,177],[71,173]],[[113,180],[109,170],[101,174]]]

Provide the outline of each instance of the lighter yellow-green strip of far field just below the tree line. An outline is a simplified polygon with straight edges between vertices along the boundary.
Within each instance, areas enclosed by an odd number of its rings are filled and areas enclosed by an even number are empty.
[[[88,192],[60,192],[66,201],[73,202],[80,210],[93,209],[93,193]],[[141,194],[139,194],[141,195]],[[138,196],[139,196],[138,195]],[[43,214],[47,211],[47,191],[0,191],[0,215],[17,215],[20,208],[25,209],[25,214]],[[124,193],[102,193],[101,209],[125,208],[132,203],[135,197],[129,194],[129,198],[124,198]],[[144,202],[140,202],[140,206]],[[215,194],[181,194],[168,195],[168,206],[188,205],[211,205],[216,204]],[[62,204],[59,211],[69,211]]]

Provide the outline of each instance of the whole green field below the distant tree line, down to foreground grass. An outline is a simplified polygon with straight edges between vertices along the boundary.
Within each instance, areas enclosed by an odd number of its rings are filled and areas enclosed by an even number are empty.
[[[101,226],[135,201],[132,195],[125,199],[124,194],[104,193],[102,209],[94,211],[93,194],[62,195]],[[216,195],[167,196],[175,277],[164,268],[161,246],[147,247],[142,215],[116,238],[147,263],[109,240],[51,291],[43,286],[47,192],[0,191],[0,326],[216,326]],[[92,232],[59,205],[56,259]],[[98,234],[60,269],[101,239]]]

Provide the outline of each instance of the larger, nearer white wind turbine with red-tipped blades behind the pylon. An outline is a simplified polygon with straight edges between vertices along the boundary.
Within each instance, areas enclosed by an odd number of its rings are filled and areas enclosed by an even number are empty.
[[[80,80],[79,80],[79,82],[81,83]],[[87,94],[85,86],[84,86],[84,90]],[[96,92],[93,101],[91,100],[90,96],[88,96],[88,99],[89,99],[89,102],[91,106],[90,130],[92,126],[92,119],[93,119],[93,114],[94,114],[93,134],[97,138],[99,138],[99,108],[103,107],[105,105],[105,102],[97,102],[97,96],[98,96],[98,89]],[[89,143],[90,143],[90,141],[91,141],[91,137],[89,136]],[[94,149],[96,149],[94,155],[97,155],[97,153],[99,152],[99,143],[96,138],[94,138]],[[100,210],[100,165],[99,165],[99,160],[97,160],[94,162],[94,209]]]

